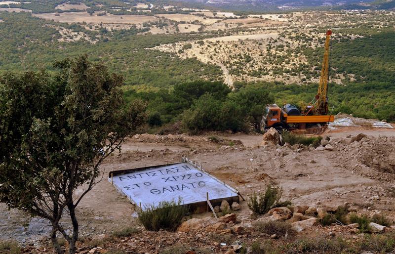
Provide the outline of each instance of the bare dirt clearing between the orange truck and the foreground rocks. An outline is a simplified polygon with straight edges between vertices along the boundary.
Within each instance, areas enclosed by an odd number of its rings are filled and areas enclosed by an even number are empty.
[[[368,135],[366,140],[345,144],[348,136]],[[216,135],[220,141],[212,142]],[[110,170],[131,169],[179,162],[181,156],[201,162],[209,173],[235,187],[243,197],[263,191],[268,183],[284,190],[283,198],[293,204],[338,206],[344,203],[369,207],[395,219],[394,197],[386,192],[395,184],[395,130],[343,128],[326,133],[333,151],[307,148],[264,146],[262,135],[207,134],[150,135],[129,138],[120,154],[102,166],[104,179],[89,192],[78,208],[81,237],[97,237],[134,226],[142,228],[129,201],[106,179]],[[231,142],[232,141],[232,142]],[[393,161],[392,161],[393,160]],[[82,189],[77,190],[78,193]],[[379,199],[372,199],[373,196]],[[239,217],[251,211],[241,202]],[[47,241],[49,227],[43,220],[24,212],[8,211],[0,204],[0,238],[40,246]],[[197,217],[210,216],[209,213]]]

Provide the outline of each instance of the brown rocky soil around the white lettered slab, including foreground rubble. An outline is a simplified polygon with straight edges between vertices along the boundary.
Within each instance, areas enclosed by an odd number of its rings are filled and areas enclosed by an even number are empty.
[[[135,212],[127,199],[103,180],[79,206],[81,239],[84,240],[79,244],[79,251],[163,253],[182,244],[197,253],[232,253],[239,251],[240,243],[250,246],[255,241],[268,239],[284,241],[282,236],[271,238],[256,229],[257,222],[268,220],[293,223],[297,237],[325,235],[359,241],[364,236],[359,234],[356,225],[317,223],[316,217],[335,213],[339,206],[345,205],[348,212],[370,217],[384,214],[394,222],[395,131],[346,128],[325,135],[328,138],[317,148],[280,146],[271,142],[258,145],[261,135],[133,136],[125,142],[120,154],[104,163],[104,172],[178,162],[181,156],[189,154],[209,173],[237,188],[245,199],[254,192],[264,191],[270,183],[282,187],[282,200],[290,200],[293,205],[256,216],[247,202],[241,201],[239,206],[229,204],[237,209],[226,217],[215,219],[212,213],[193,214],[177,232],[149,232],[133,217]],[[3,204],[0,209],[1,239],[19,241],[26,246],[26,252],[50,252],[45,221],[29,218],[23,212],[8,211]],[[373,226],[380,231],[392,230]],[[139,233],[110,241],[110,244],[108,239],[112,233],[125,227],[137,228]]]

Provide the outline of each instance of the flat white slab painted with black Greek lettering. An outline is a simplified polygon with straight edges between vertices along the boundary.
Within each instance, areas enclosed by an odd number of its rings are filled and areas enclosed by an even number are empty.
[[[109,181],[142,210],[179,198],[184,205],[206,207],[207,193],[213,205],[222,200],[239,200],[237,190],[187,161],[111,171]]]

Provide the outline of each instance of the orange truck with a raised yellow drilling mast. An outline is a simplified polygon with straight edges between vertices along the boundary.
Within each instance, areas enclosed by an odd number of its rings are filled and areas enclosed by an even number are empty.
[[[334,116],[328,115],[328,83],[330,75],[329,50],[332,31],[326,32],[324,59],[322,61],[321,77],[318,91],[313,100],[302,110],[295,105],[285,104],[281,108],[276,104],[267,105],[262,117],[265,130],[274,127],[280,133],[282,130],[305,130],[321,128],[333,122]]]

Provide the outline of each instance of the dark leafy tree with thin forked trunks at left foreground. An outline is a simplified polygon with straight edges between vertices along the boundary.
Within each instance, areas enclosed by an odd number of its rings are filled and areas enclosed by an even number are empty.
[[[145,122],[145,105],[125,105],[123,78],[86,56],[54,69],[0,76],[0,202],[49,220],[55,251],[59,232],[74,254],[76,208],[102,179],[103,160]]]

